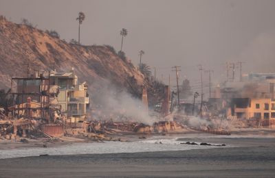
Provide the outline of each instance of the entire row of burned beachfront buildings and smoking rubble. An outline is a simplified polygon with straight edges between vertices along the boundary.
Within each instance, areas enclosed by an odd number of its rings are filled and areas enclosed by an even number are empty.
[[[110,111],[91,107],[89,86],[78,81],[73,69],[62,73],[36,71],[28,77],[11,78],[6,105],[0,110],[0,134],[2,139],[83,136],[112,140],[112,136],[120,134],[140,134],[140,138],[150,133],[184,131],[230,135],[232,127],[273,127],[275,77],[272,76],[252,75],[237,83],[239,87],[234,82],[217,86],[212,97],[202,103],[195,102],[197,92],[193,102],[187,103],[165,86],[153,107],[148,107],[150,97],[144,83],[140,99],[126,103],[131,109],[135,107],[135,112],[130,113],[129,108]],[[260,82],[259,77],[264,79]]]

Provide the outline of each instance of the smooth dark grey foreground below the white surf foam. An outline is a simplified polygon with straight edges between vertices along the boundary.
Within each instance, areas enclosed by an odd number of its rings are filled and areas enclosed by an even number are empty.
[[[273,147],[0,160],[1,177],[274,177],[274,174]]]

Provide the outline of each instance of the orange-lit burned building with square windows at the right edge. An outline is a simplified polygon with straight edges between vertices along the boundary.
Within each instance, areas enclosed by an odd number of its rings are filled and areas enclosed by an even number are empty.
[[[225,84],[217,101],[225,102],[228,118],[270,126],[275,124],[274,84],[274,74],[252,73],[244,81]]]

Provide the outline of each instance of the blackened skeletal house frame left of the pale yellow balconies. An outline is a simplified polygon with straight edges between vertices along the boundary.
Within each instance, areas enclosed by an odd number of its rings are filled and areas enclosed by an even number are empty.
[[[61,107],[51,102],[57,90],[50,90],[49,77],[12,77],[11,80],[8,110],[13,118],[42,118],[49,123],[54,120],[54,112]]]

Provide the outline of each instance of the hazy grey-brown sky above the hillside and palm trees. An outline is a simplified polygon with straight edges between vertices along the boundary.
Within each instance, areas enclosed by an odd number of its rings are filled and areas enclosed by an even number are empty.
[[[156,67],[157,77],[175,83],[171,66],[197,88],[197,64],[214,70],[214,81],[226,75],[225,62],[245,62],[248,73],[275,72],[275,1],[39,1],[0,0],[0,14],[20,23],[27,18],[40,29],[55,29],[62,39],[78,37],[78,12],[83,44],[111,44],[120,49],[120,29],[128,29],[124,51],[134,64]],[[238,70],[238,69],[236,69]],[[206,73],[203,79],[207,81]],[[239,75],[236,73],[236,75]],[[163,76],[163,77],[162,77]]]

